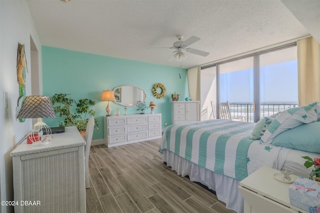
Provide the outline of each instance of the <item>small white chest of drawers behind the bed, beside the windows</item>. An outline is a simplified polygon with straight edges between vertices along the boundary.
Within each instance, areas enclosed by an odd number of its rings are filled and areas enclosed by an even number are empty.
[[[199,101],[172,101],[172,124],[191,123],[199,120]]]

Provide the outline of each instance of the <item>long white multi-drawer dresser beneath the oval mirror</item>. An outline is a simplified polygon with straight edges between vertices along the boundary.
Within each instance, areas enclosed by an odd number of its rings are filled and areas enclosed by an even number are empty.
[[[107,147],[160,138],[161,114],[104,116],[103,132]]]

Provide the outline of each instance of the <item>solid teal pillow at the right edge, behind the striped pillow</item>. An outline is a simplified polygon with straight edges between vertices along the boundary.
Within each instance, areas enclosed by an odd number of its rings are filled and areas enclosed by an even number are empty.
[[[320,153],[320,122],[302,124],[277,135],[272,145]]]

